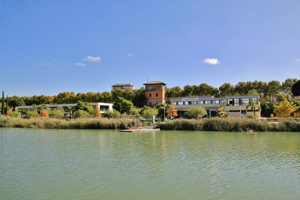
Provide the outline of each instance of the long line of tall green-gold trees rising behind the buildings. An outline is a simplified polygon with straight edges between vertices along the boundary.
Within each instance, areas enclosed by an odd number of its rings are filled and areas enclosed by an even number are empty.
[[[283,96],[290,97],[292,95],[292,85],[298,82],[298,79],[286,79],[284,82],[272,80],[269,82],[262,81],[247,81],[238,82],[236,85],[225,82],[220,87],[213,87],[206,83],[199,85],[185,85],[183,88],[179,86],[173,86],[171,88],[166,87],[167,102],[172,97],[191,97],[191,96],[214,96],[225,97],[235,95],[253,95],[259,94],[263,102],[273,102],[282,100]],[[145,88],[141,87],[134,91],[131,90],[112,90],[105,92],[87,92],[77,93],[74,92],[61,92],[58,95],[46,96],[46,95],[34,95],[32,97],[7,97],[7,103],[9,107],[15,106],[31,106],[33,104],[67,104],[82,102],[103,102],[114,103],[118,97],[122,97],[125,100],[131,101],[134,106],[143,108],[146,105],[146,96],[144,92]],[[1,99],[2,101],[2,99]],[[3,103],[2,103],[3,104]],[[3,104],[6,107],[6,102]],[[1,106],[1,104],[0,104]]]

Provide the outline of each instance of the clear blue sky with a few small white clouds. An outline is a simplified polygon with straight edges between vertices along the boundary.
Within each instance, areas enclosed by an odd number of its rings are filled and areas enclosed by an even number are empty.
[[[300,1],[0,1],[5,96],[300,78]]]

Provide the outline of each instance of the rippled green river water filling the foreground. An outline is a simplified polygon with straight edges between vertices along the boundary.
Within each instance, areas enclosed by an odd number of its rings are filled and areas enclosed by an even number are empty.
[[[0,199],[299,199],[300,133],[0,128]]]

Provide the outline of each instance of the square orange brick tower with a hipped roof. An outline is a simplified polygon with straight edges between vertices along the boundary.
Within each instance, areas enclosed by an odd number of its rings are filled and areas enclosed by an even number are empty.
[[[160,81],[152,81],[144,83],[145,85],[145,95],[147,98],[147,106],[152,107],[158,104],[166,103],[166,84]]]

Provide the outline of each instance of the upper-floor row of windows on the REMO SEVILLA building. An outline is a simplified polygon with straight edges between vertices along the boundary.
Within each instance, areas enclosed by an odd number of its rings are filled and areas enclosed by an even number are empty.
[[[258,103],[257,98],[251,98],[251,99],[253,99],[255,103]],[[248,105],[249,100],[250,98],[227,99],[227,106]],[[210,104],[210,103],[223,103],[223,100],[171,102],[171,105],[191,105],[191,104]]]

